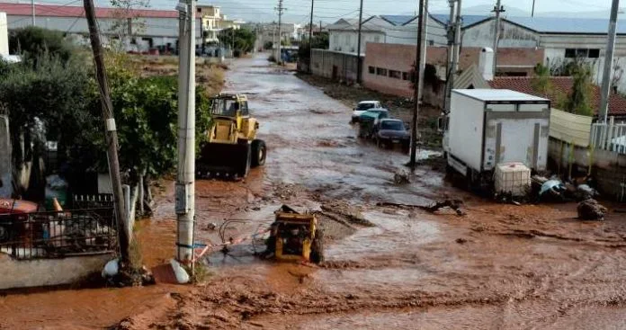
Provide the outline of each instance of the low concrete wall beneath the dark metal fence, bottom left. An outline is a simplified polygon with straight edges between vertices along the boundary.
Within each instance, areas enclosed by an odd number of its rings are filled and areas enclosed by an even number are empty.
[[[71,284],[102,272],[113,254],[83,255],[63,259],[14,260],[0,254],[0,290]]]

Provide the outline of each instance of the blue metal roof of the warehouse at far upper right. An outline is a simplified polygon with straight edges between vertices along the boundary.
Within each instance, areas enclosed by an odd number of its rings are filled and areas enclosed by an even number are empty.
[[[540,33],[606,34],[609,20],[559,17],[506,17],[506,21]],[[618,20],[617,32],[626,33],[626,22]]]

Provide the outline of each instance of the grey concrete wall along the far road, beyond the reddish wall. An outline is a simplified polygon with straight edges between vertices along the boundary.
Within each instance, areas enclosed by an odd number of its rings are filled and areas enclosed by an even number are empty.
[[[356,81],[358,60],[356,55],[326,49],[313,49],[311,72],[341,81]]]

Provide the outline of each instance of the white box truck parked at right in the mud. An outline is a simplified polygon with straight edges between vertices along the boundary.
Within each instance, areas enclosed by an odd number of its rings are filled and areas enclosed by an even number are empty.
[[[472,186],[492,188],[497,165],[546,169],[550,100],[505,89],[455,89],[443,130],[447,169]]]

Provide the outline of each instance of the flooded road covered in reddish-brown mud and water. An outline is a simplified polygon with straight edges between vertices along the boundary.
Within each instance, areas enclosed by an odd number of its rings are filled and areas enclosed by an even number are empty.
[[[429,166],[397,185],[393,174],[407,156],[355,138],[342,103],[264,58],[230,68],[225,89],[248,94],[268,159],[244,182],[196,183],[196,241],[219,243],[209,225],[224,219],[246,219],[228,236],[247,236],[269,224],[282,203],[366,221],[322,217],[329,241],[319,267],[260,261],[257,245],[237,245],[229,254],[210,254],[209,274],[198,286],[76,291],[85,296],[82,304],[67,290],[40,293],[36,303],[29,299],[36,296],[13,295],[0,300],[0,314],[13,311],[1,325],[93,328],[126,317],[121,328],[626,328],[623,215],[582,222],[575,204],[496,204],[453,188]],[[138,229],[150,266],[174,254],[171,191],[165,186],[154,219]],[[466,215],[376,206],[446,198],[463,200]],[[69,308],[54,315],[44,308],[50,297],[66,298]],[[29,301],[33,309],[24,306]],[[101,301],[109,310],[84,306]],[[111,317],[87,314],[98,312]]]

